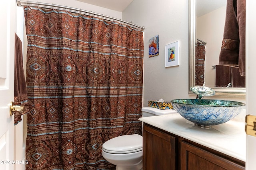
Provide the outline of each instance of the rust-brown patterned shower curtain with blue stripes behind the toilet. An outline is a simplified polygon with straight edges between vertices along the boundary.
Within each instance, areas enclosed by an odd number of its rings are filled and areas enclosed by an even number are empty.
[[[24,13],[26,169],[114,169],[102,144],[142,134],[143,32],[66,10]]]

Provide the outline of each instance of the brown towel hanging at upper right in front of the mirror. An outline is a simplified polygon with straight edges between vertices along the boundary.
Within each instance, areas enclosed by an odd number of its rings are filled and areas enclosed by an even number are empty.
[[[241,76],[245,76],[245,16],[246,0],[227,0],[219,64],[239,67]]]

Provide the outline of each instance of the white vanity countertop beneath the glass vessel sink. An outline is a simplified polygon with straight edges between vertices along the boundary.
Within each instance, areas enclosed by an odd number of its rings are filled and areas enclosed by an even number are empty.
[[[178,113],[141,117],[139,120],[244,162],[246,160],[244,122],[230,120],[211,129],[202,129],[187,123]]]

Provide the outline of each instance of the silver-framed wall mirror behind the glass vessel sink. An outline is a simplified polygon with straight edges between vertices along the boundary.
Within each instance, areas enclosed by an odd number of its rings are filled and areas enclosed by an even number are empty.
[[[228,71],[224,74],[226,68],[220,70],[218,66],[225,17],[226,0],[190,0],[189,88],[206,82],[206,86],[214,89],[216,95],[244,97],[245,88],[241,88],[240,84],[234,88],[231,80],[224,79],[225,75],[232,74],[231,67],[227,66]]]

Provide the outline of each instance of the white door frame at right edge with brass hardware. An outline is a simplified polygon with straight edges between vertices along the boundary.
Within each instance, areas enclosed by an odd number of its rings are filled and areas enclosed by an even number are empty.
[[[246,113],[256,115],[256,1],[246,0]],[[256,137],[246,137],[246,170],[256,170]]]

